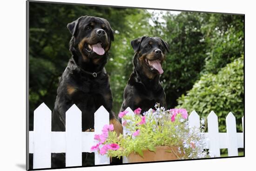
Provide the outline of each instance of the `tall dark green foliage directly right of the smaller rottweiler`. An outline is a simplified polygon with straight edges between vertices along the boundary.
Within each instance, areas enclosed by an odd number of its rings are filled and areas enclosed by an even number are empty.
[[[203,17],[207,13],[180,13],[164,17],[166,26],[163,39],[170,46],[170,53],[163,64],[161,77],[167,94],[167,107],[174,108],[176,99],[192,88],[204,67],[207,45],[203,40]]]

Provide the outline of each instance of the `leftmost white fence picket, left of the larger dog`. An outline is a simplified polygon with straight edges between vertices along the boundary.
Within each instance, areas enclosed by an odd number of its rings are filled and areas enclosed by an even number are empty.
[[[34,169],[51,167],[51,125],[52,112],[42,103],[34,110]]]

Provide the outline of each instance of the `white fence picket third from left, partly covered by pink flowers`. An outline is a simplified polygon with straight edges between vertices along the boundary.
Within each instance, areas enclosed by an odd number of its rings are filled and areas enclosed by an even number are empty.
[[[101,106],[94,113],[94,133],[101,134],[101,130],[104,125],[109,124],[109,113]],[[94,153],[94,163],[95,165],[106,165],[109,164],[109,157],[107,155],[101,155],[98,152]]]

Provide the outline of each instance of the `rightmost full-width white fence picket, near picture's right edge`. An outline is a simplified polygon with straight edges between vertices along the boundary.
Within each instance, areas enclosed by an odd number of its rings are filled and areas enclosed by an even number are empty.
[[[228,137],[228,154],[229,156],[238,156],[237,136],[236,136],[236,118],[229,112],[226,117],[227,137]]]

